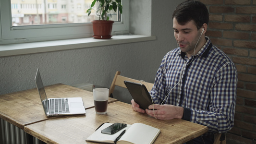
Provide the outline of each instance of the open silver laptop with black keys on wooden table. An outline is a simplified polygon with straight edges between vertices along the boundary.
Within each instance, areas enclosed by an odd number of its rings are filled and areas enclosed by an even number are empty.
[[[82,97],[47,98],[39,69],[35,82],[46,116],[85,114]]]

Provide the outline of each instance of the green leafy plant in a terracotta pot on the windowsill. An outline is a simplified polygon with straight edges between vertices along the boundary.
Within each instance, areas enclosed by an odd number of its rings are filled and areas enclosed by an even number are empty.
[[[110,21],[111,12],[119,11],[122,13],[121,0],[93,0],[90,9],[86,11],[88,16],[93,10],[93,6],[98,2],[99,6],[96,12],[99,15],[98,20],[93,20],[94,38],[108,39],[111,38],[112,25],[114,21]],[[110,16],[110,17],[109,17]]]

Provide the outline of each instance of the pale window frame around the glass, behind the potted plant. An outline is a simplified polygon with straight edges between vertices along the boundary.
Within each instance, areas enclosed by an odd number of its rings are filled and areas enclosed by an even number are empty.
[[[121,22],[115,22],[111,35],[129,33],[130,0],[122,0]],[[46,24],[12,27],[11,0],[0,0],[0,45],[92,37],[92,23]]]

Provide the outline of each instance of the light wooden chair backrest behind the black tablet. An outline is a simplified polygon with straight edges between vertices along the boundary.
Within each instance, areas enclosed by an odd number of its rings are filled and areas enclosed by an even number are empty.
[[[125,84],[123,83],[123,81],[130,81],[130,82],[134,82],[134,83],[138,83],[138,84],[140,84],[140,83],[144,84],[148,91],[150,91],[152,89],[153,85],[154,85],[152,83],[147,83],[147,82],[143,82],[143,81],[139,81],[139,80],[135,80],[135,79],[132,79],[132,78],[128,78],[128,77],[122,76],[122,75],[120,75],[120,73],[121,72],[117,71],[116,74],[115,74],[115,77],[114,77],[114,79],[112,81],[112,84],[110,86],[110,93],[109,93],[110,97],[112,97],[111,95],[112,95],[116,85],[117,86],[121,86],[123,88],[127,88],[125,86]]]

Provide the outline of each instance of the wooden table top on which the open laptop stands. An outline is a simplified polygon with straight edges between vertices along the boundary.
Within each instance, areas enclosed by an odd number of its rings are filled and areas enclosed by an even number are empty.
[[[94,108],[93,93],[65,84],[45,86],[47,97],[82,97],[85,109]],[[109,103],[117,99],[109,98]],[[85,116],[85,115],[84,115]],[[44,113],[36,88],[0,95],[0,118],[24,129],[25,125],[53,119]]]

